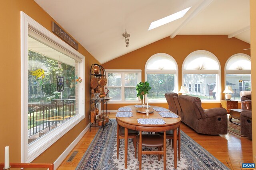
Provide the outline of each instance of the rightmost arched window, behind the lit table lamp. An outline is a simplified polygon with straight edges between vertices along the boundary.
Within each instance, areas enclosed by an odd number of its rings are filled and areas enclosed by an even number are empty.
[[[241,91],[251,91],[251,59],[246,54],[232,55],[225,66],[226,84],[234,93],[232,100],[240,100]]]

